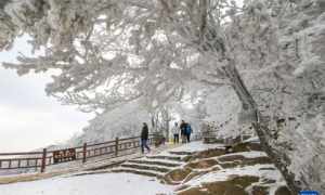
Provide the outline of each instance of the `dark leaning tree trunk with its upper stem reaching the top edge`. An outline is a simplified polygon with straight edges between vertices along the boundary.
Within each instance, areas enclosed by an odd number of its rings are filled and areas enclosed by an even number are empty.
[[[162,2],[162,5],[165,6],[165,9],[167,9],[169,11],[168,4],[162,0],[161,0],[161,2]],[[199,26],[197,26],[199,29],[198,38],[200,40],[200,44],[198,46],[198,48],[199,48],[200,52],[205,52],[207,49],[204,46],[207,42],[205,42],[204,37],[209,34],[213,34],[213,30],[212,29],[207,30],[207,28],[208,28],[208,24],[207,24],[208,0],[199,0],[198,2],[199,2],[199,15],[200,15]],[[213,36],[217,36],[217,34]],[[220,39],[217,40],[218,44],[214,46],[216,51],[220,51],[221,56],[223,58],[226,58],[226,53],[231,52],[231,51],[226,51],[225,42],[226,41],[222,37],[220,37]],[[209,47],[207,47],[207,48],[209,48]],[[249,114],[250,121],[252,123],[255,131],[257,132],[257,134],[260,139],[263,150],[274,160],[275,166],[282,172],[282,174],[285,178],[292,194],[298,194],[301,187],[295,182],[295,177],[287,169],[288,164],[286,164],[286,161],[288,161],[288,158],[287,158],[286,154],[284,154],[283,152],[276,151],[275,146],[272,145],[273,139],[272,139],[272,136],[270,136],[270,134],[268,132],[268,128],[261,126],[260,118],[262,118],[262,117],[260,116],[260,113],[258,110],[258,105],[255,102],[252,95],[247,90],[247,87],[245,86],[237,68],[235,67],[235,61],[233,61],[233,60],[227,60],[227,61],[229,61],[229,63],[223,68],[223,70],[225,72],[229,79],[231,80],[232,87],[235,90],[237,96],[239,98],[239,100],[242,102],[243,110]]]

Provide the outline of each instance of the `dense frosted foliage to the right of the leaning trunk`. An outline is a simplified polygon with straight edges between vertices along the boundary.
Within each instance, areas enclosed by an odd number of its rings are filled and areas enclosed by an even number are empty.
[[[324,191],[324,2],[261,2],[230,28],[236,64],[275,157],[296,185]]]

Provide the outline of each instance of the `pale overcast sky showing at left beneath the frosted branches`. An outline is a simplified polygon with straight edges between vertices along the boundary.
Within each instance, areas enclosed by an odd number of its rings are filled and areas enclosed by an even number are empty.
[[[27,36],[18,38],[9,52],[0,52],[0,62],[14,62],[18,52],[31,55]],[[47,96],[46,74],[18,77],[0,66],[0,153],[28,151],[69,139],[81,132],[92,115],[63,106]]]

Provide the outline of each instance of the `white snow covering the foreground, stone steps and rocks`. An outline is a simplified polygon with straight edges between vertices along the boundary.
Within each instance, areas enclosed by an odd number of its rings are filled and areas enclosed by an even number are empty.
[[[170,147],[170,148],[168,148]],[[181,161],[174,159],[174,157],[185,157],[186,154],[182,153],[194,153],[209,151],[213,148],[223,148],[222,144],[203,144],[203,142],[192,142],[188,144],[179,145],[176,148],[173,146],[166,146],[166,148],[157,153],[147,154],[145,157],[134,158],[130,161],[123,162],[125,166],[114,168],[126,170],[138,170],[141,172],[153,173],[160,177],[166,177],[165,173],[173,172],[173,170],[187,170],[188,164],[195,165],[202,162],[200,166],[205,165],[206,168],[194,168],[191,170],[200,171],[198,174],[191,180],[186,180],[186,177],[180,182],[174,182],[178,185],[166,185],[160,183],[156,178],[144,177],[133,173],[116,173],[112,172],[112,169],[98,170],[98,171],[81,171],[77,173],[64,174],[52,179],[32,181],[32,182],[20,182],[14,184],[0,185],[0,195],[171,195],[174,193],[185,193],[193,188],[202,187],[204,183],[213,183],[220,181],[229,181],[234,177],[257,177],[258,182],[250,183],[245,191],[252,190],[253,186],[266,186],[270,194],[275,194],[280,186],[285,186],[286,182],[281,176],[281,172],[276,170],[274,165],[271,162],[256,161],[251,165],[242,166],[234,165],[233,167],[223,168],[218,161],[220,157],[231,156],[243,156],[245,158],[258,158],[266,157],[264,152],[249,151],[238,152],[233,154],[218,155],[211,157],[203,157],[203,159],[195,159],[194,161]],[[173,153],[172,153],[173,152]],[[177,154],[176,152],[179,152]],[[158,158],[159,157],[159,158]],[[162,157],[162,158],[161,158]],[[169,158],[167,158],[169,157]],[[214,160],[217,164],[211,167],[208,164],[204,164],[204,160]],[[142,161],[138,164],[138,161]],[[154,162],[160,164],[154,164]],[[165,164],[174,164],[176,166],[167,166]],[[126,166],[126,165],[129,165]],[[133,167],[130,167],[133,166]],[[138,167],[136,167],[138,166]],[[141,167],[144,166],[144,167]],[[213,168],[218,169],[213,169]],[[159,169],[169,169],[168,171],[160,171]],[[103,172],[107,171],[107,172]],[[207,172],[208,171],[208,172]],[[165,174],[165,176],[164,176]],[[167,173],[168,174],[168,173]],[[150,174],[148,174],[150,176]],[[173,176],[181,176],[174,172]],[[190,176],[190,174],[188,174]],[[167,177],[168,178],[168,177]],[[273,181],[265,184],[265,181]],[[167,182],[168,183],[168,182]],[[182,190],[179,190],[182,188]],[[211,191],[212,192],[212,191]]]

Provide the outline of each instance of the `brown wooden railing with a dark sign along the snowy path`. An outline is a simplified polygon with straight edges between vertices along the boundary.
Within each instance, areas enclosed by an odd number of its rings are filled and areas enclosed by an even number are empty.
[[[148,144],[154,143],[154,136],[151,134]],[[82,146],[48,151],[43,148],[42,152],[26,152],[26,153],[0,153],[0,170],[12,169],[40,169],[44,172],[48,166],[57,165],[67,161],[79,160],[87,162],[88,159],[110,155],[109,158],[123,156],[123,152],[139,148],[141,146],[140,136],[132,136],[126,139],[116,138],[113,141],[103,143],[87,144]],[[62,158],[62,161],[54,161],[54,154],[60,151],[69,151],[70,155]]]

